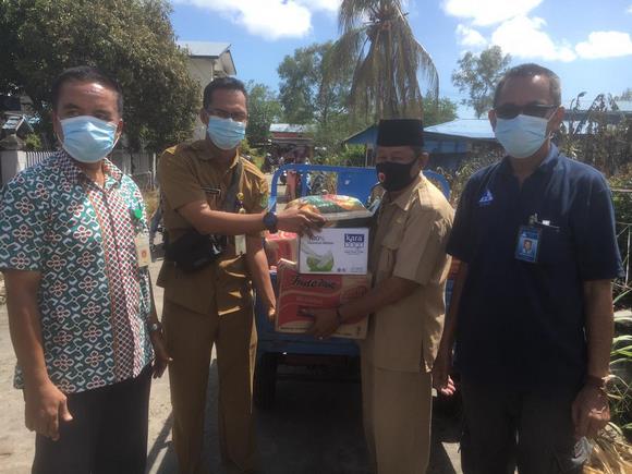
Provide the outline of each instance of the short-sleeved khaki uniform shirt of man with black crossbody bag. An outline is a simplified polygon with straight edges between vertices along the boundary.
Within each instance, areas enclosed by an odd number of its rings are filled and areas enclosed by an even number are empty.
[[[162,216],[171,242],[193,228],[178,212],[182,206],[206,200],[211,209],[223,210],[223,198],[238,159],[239,155],[235,155],[229,168],[222,170],[206,139],[180,144],[162,154],[158,174]],[[263,212],[268,205],[268,183],[257,167],[245,159],[241,161],[243,173],[239,192],[244,195],[243,207],[248,214]],[[199,271],[185,272],[166,260],[157,281],[159,287],[165,288],[165,297],[196,313],[217,311],[220,316],[252,305],[245,256],[235,254],[233,236],[229,236],[228,241],[224,253]]]

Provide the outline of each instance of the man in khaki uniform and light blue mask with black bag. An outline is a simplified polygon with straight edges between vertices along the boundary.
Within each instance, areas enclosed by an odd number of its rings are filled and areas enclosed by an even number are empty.
[[[247,120],[246,92],[240,81],[223,77],[210,83],[200,119],[207,124],[205,139],[169,148],[160,158],[167,250],[193,229],[202,235],[236,236],[229,238],[221,255],[202,269],[185,270],[166,259],[160,271],[162,323],[173,358],[169,365],[173,443],[181,473],[208,472],[202,446],[208,367],[216,344],[222,459],[230,472],[251,472],[256,353],[251,280],[270,314],[275,308],[262,232],[277,228],[302,232],[317,227],[321,218],[306,210],[264,214],[267,182],[238,150]],[[224,211],[228,196],[236,208]]]

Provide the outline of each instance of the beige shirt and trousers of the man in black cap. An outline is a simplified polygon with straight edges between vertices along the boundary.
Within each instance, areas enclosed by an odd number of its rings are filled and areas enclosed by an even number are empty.
[[[364,428],[378,474],[423,474],[430,448],[430,369],[446,312],[453,209],[420,177],[394,200],[388,194],[374,228],[374,285],[390,277],[420,284],[408,297],[370,316],[362,342]]]

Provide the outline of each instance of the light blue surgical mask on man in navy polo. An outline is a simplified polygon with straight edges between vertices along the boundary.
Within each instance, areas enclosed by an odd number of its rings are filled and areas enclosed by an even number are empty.
[[[520,114],[513,119],[496,119],[496,138],[513,158],[533,156],[547,138],[548,120]]]

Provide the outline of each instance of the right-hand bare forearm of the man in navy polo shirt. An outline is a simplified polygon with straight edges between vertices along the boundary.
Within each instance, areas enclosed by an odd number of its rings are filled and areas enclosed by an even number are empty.
[[[586,375],[603,378],[609,373],[613,336],[612,284],[609,280],[584,282]]]

